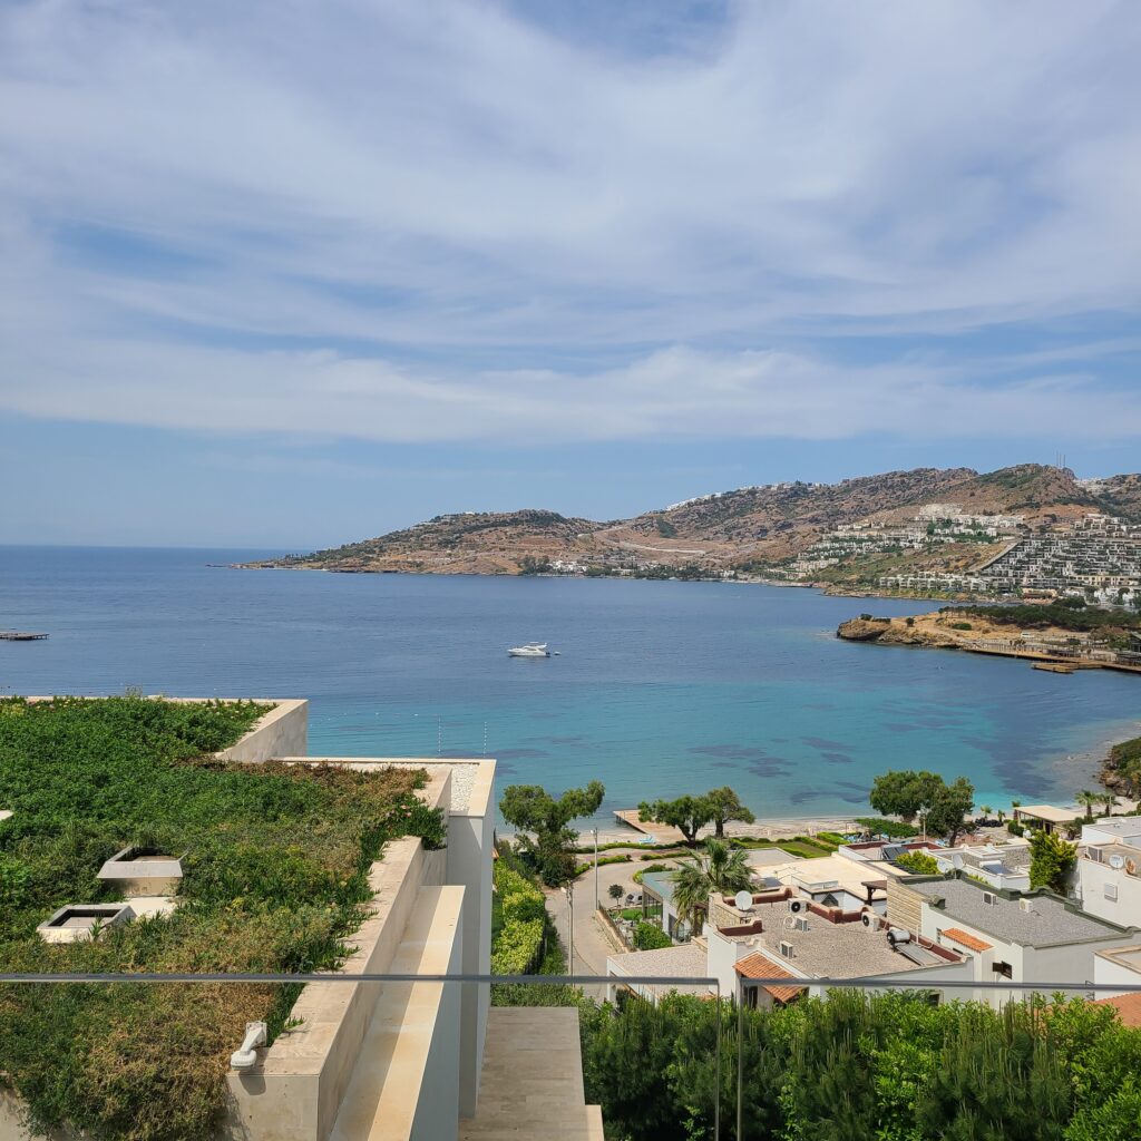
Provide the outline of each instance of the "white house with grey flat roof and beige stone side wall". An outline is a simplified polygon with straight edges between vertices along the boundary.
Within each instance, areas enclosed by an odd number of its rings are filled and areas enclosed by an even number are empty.
[[[998,891],[962,872],[892,880],[888,921],[969,954],[978,982],[1090,982],[1099,952],[1138,941],[1135,930],[1049,891]],[[971,997],[998,1006],[1020,994],[979,989]]]

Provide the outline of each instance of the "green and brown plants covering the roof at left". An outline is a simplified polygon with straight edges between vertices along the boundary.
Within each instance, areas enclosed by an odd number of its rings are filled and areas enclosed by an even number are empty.
[[[309,971],[337,966],[387,840],[444,842],[415,796],[426,774],[211,759],[266,712],[122,697],[0,701],[0,969]],[[183,858],[184,903],[96,940],[47,946],[64,904],[108,901],[96,874],[131,843]],[[0,1081],[41,1132],[201,1141],[245,1022],[285,1026],[298,988],[0,987]]]

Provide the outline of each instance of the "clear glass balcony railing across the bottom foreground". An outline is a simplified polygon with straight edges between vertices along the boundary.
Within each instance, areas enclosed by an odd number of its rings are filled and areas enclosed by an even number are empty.
[[[0,1139],[367,1141],[383,1116],[448,1141],[1125,1141],[1132,1001],[1063,979],[0,973]]]

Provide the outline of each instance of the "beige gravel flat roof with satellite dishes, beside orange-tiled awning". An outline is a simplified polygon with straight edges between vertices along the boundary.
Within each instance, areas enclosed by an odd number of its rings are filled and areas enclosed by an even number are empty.
[[[831,923],[810,912],[794,915],[788,904],[788,900],[754,904],[752,917],[762,921],[763,930],[725,938],[763,950],[775,962],[790,963],[803,974],[817,978],[858,979],[865,974],[898,974],[900,971],[917,970],[921,965],[895,950],[884,930],[868,929],[863,923]],[[796,928],[794,919],[804,920],[807,929]],[[791,957],[780,953],[782,942],[792,946]],[[942,960],[932,955],[932,962],[925,965],[933,966],[936,963],[944,965]]]

